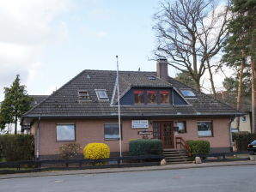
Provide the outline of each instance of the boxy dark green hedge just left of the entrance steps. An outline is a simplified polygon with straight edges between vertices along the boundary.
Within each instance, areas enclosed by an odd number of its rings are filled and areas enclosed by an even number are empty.
[[[153,140],[132,140],[129,142],[130,155],[162,154],[162,141]]]

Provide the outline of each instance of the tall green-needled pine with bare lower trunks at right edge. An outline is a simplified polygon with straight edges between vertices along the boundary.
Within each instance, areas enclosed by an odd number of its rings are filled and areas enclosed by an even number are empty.
[[[253,133],[256,133],[256,101],[255,101],[255,54],[256,54],[256,1],[231,0],[232,20],[229,22],[229,39],[225,42],[225,55],[222,61],[237,70],[239,89],[237,108],[241,108],[241,91],[243,69],[251,72]]]

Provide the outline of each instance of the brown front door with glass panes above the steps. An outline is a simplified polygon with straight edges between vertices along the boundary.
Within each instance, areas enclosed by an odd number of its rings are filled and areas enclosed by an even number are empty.
[[[153,135],[155,139],[162,140],[163,148],[174,148],[174,128],[172,122],[153,123]]]

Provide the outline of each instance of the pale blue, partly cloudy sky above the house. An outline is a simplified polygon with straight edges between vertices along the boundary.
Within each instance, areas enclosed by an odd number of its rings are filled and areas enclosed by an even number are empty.
[[[83,69],[115,70],[116,55],[120,70],[155,71],[158,7],[157,0],[0,0],[0,100],[15,75],[27,93],[51,94]],[[207,75],[202,83],[209,87]]]

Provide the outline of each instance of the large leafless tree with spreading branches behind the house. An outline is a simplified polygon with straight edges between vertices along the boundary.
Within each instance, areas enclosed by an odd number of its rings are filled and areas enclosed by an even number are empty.
[[[219,14],[213,0],[171,2],[160,3],[160,11],[154,16],[155,56],[166,57],[175,69],[188,71],[197,89],[200,89],[200,79],[208,69],[213,85],[210,59],[221,50],[227,35],[228,7],[223,6],[225,8]]]

